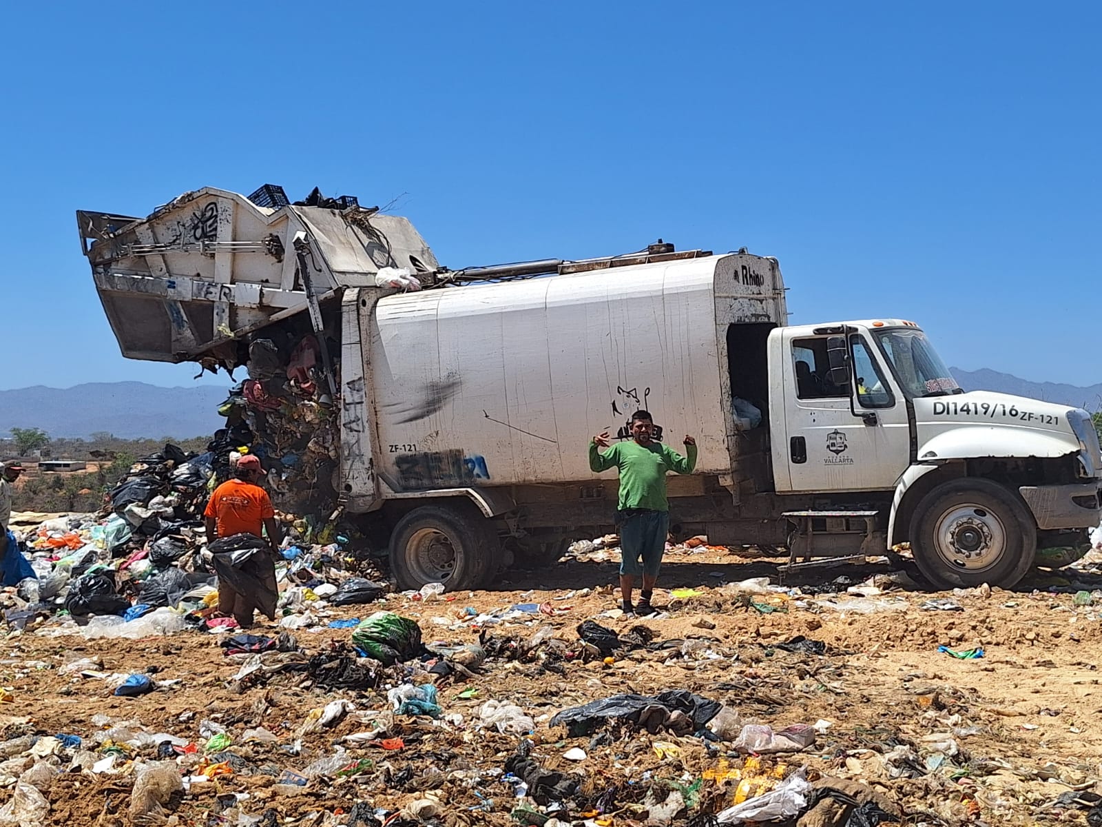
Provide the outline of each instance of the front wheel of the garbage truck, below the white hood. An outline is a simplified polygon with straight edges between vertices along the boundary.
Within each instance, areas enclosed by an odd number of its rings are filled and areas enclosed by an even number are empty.
[[[919,502],[910,548],[922,577],[939,589],[1009,589],[1033,566],[1037,525],[1016,492],[990,480],[953,480]]]

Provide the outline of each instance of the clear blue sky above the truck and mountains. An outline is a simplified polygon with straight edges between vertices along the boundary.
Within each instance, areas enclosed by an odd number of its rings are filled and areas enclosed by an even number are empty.
[[[0,388],[138,379],[74,211],[204,185],[402,196],[451,267],[746,246],[796,323],[1102,382],[1102,6],[18,3]],[[404,194],[404,195],[403,195]]]

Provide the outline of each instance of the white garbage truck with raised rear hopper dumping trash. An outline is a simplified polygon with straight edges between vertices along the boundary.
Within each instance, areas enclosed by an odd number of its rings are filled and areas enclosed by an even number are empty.
[[[355,519],[402,588],[615,531],[587,444],[637,409],[699,447],[671,533],[785,571],[909,546],[936,587],[1009,588],[1100,522],[1085,411],[965,393],[914,321],[790,325],[745,248],[456,270],[408,218],[274,185],[77,222],[122,354],[240,379],[224,444],[251,440],[277,504]]]

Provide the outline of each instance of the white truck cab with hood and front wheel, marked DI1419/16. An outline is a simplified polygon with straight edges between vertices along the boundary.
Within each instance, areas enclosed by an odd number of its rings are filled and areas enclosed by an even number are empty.
[[[965,393],[914,322],[779,327],[769,365],[776,491],[893,492],[888,545],[940,586],[1016,582],[1038,537],[1098,523],[1090,416]]]

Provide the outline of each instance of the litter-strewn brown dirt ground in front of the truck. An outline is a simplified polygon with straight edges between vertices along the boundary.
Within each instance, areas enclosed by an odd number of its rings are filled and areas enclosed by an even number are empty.
[[[444,720],[392,715],[386,691],[403,675],[401,666],[388,670],[375,689],[325,691],[313,685],[309,672],[277,673],[242,684],[231,678],[248,656],[225,656],[219,647],[224,635],[183,632],[138,641],[85,640],[50,636],[47,623],[39,631],[13,632],[4,641],[0,683],[10,702],[0,707],[0,734],[76,734],[98,761],[111,744],[96,744],[97,734],[102,738],[104,730],[119,721],[131,722],[131,730],[140,723],[150,733],[197,744],[193,754],[169,754],[185,767],[185,776],[226,762],[233,770],[190,782],[183,795],[169,796],[163,806],[134,812],[132,761],[156,760],[158,739],[139,748],[118,745],[109,773],[69,771],[72,750],[64,751],[46,759],[64,772],[42,785],[50,802],[45,823],[72,827],[506,825],[538,824],[548,815],[553,816],[551,825],[604,827],[648,823],[653,805],[672,791],[680,791],[689,806],[668,823],[704,825],[707,814],[730,806],[736,796],[767,790],[778,776],[802,765],[812,780],[857,782],[861,790],[882,793],[878,801],[905,824],[1083,823],[1085,808],[1067,804],[1074,797],[1067,794],[1102,792],[1102,608],[1073,602],[1077,587],[1096,588],[1102,579],[1082,572],[1038,574],[1013,592],[983,589],[955,595],[885,582],[883,594],[865,599],[845,594],[845,583],[835,587],[842,591],[835,599],[839,606],[857,600],[858,606],[861,601],[879,601],[893,609],[863,614],[824,608],[822,595],[739,597],[721,587],[753,577],[777,583],[777,561],[726,549],[678,549],[667,556],[662,588],[656,592],[655,603],[665,611],[638,620],[608,616],[609,610],[617,614],[612,592],[616,552],[583,557],[530,574],[507,573],[493,591],[434,601],[391,594],[381,604],[321,613],[327,624],[387,609],[417,620],[425,643],[477,643],[483,634],[491,652],[501,638],[523,641],[550,624],[554,637],[566,642],[559,651],[579,654],[562,659],[544,649],[532,658],[490,656],[474,677],[443,678],[437,687]],[[839,567],[788,584],[839,577],[856,584],[888,571],[886,566]],[[695,593],[673,598],[667,591],[682,588]],[[963,611],[922,609],[931,598],[953,600]],[[528,614],[482,627],[472,623],[479,614],[522,603],[544,604],[554,614]],[[655,640],[649,647],[617,654],[611,663],[587,659],[579,651],[575,631],[587,619],[617,633],[642,625]],[[282,630],[263,622],[251,631],[274,636]],[[293,634],[306,655],[316,655],[348,643],[352,630],[323,625]],[[825,654],[777,647],[797,635],[821,641]],[[658,648],[671,640],[688,645]],[[957,659],[939,653],[941,645],[958,652],[982,647],[984,656]],[[60,667],[82,657],[99,657],[104,673],[152,673],[166,685],[138,698],[115,697],[100,677],[62,674]],[[404,674],[411,672],[404,668]],[[423,679],[414,676],[415,683]],[[775,730],[815,726],[817,740],[800,753],[758,762],[747,761],[731,742],[692,734],[651,734],[616,726],[607,734],[569,738],[564,728],[549,726],[550,717],[568,707],[618,692],[673,689],[720,700],[744,720]],[[311,710],[337,699],[352,701],[355,711],[332,728],[300,735]],[[518,782],[505,770],[521,738],[478,727],[479,709],[491,699],[516,704],[536,720],[531,759],[581,781],[566,812],[510,816],[518,807],[539,807],[517,797]],[[455,713],[463,716],[462,723],[451,717]],[[94,721],[96,716],[114,723]],[[213,730],[206,724],[201,733],[204,721],[225,728],[233,745],[205,758],[205,733]],[[246,729],[258,727],[273,733],[276,742],[242,741]],[[376,740],[344,740],[371,730],[378,730]],[[120,730],[115,734],[126,735]],[[383,739],[398,738],[399,749],[386,749],[397,744],[383,744]],[[337,777],[316,777],[304,786],[279,783],[284,771],[305,774],[338,744],[347,753],[338,762],[346,771]],[[565,759],[572,748],[583,750],[585,758]],[[20,754],[3,744],[0,752]],[[0,805],[9,802],[12,780],[20,774],[9,763],[0,764],[0,783],[8,778]],[[23,764],[15,770],[30,762]],[[747,780],[742,793],[739,775]],[[1063,805],[1045,806],[1061,795]],[[6,820],[3,809],[0,820]]]

